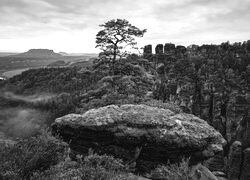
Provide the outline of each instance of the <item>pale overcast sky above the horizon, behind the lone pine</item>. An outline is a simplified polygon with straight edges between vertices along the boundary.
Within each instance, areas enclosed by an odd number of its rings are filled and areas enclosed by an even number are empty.
[[[98,52],[99,24],[127,19],[139,46],[250,39],[250,0],[0,0],[0,51]]]

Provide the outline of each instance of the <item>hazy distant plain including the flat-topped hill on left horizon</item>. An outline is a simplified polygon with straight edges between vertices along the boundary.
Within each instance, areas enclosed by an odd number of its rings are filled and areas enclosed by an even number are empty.
[[[0,76],[10,78],[20,74],[27,69],[44,67],[86,67],[92,63],[92,58],[97,54],[82,53],[68,54],[65,52],[55,53],[49,49],[30,49],[27,52],[12,54],[10,56],[0,55]],[[87,62],[86,62],[87,61]]]

